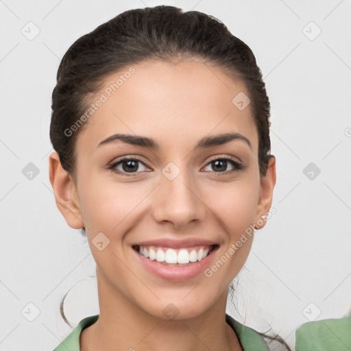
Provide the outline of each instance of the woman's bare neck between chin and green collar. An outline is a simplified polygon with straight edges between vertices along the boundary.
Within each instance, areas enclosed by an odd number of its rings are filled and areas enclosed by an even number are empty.
[[[117,348],[128,351],[242,351],[237,335],[226,324],[227,291],[201,315],[161,319],[112,289],[98,271],[97,282],[99,319],[82,331],[80,351]]]

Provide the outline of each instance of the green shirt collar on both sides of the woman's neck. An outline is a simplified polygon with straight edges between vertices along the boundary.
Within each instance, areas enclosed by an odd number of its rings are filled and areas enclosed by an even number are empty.
[[[80,351],[80,333],[84,328],[88,328],[88,326],[94,324],[98,318],[99,315],[92,315],[82,319],[71,334],[53,351]],[[232,327],[235,334],[237,334],[244,351],[269,351],[267,343],[265,343],[263,337],[256,330],[240,324],[230,317],[230,315],[226,315],[226,322]]]

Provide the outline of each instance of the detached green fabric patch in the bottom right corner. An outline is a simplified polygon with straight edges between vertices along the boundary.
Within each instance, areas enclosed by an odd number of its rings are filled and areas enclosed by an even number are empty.
[[[302,324],[296,330],[296,351],[351,350],[351,316]]]

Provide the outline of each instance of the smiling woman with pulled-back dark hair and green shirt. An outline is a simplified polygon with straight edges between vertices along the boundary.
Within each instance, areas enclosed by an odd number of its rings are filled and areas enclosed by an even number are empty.
[[[268,350],[226,301],[270,215],[269,108],[251,49],[201,12],[130,10],[73,43],[49,173],[88,238],[100,313],[56,351]]]

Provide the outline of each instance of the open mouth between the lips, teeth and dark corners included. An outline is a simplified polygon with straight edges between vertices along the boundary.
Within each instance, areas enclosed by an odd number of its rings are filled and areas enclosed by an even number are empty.
[[[197,245],[173,249],[171,247],[132,245],[133,250],[150,261],[164,265],[184,266],[204,260],[217,250],[219,245]]]

